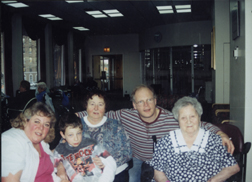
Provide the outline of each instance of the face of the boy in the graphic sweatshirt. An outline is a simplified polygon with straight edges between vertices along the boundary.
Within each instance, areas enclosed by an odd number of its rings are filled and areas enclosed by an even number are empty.
[[[65,134],[60,131],[60,135],[73,147],[79,146],[82,140],[82,130],[79,127],[73,128],[72,126],[68,126]]]

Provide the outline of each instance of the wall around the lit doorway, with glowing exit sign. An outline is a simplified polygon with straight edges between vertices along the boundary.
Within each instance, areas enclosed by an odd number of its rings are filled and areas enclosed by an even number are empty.
[[[130,94],[137,85],[141,84],[140,53],[138,46],[139,37],[137,34],[89,36],[85,40],[87,70],[90,70],[91,75],[93,55],[122,54],[123,93],[125,94],[127,91],[127,94]],[[110,53],[103,52],[104,47],[110,47]]]

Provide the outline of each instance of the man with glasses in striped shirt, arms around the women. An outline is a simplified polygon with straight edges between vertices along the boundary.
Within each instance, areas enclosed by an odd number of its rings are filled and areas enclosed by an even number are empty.
[[[156,106],[157,98],[151,87],[136,87],[131,94],[131,100],[134,108],[109,111],[106,116],[121,121],[128,132],[133,152],[133,168],[129,170],[129,181],[140,182],[142,163],[152,159],[152,136],[156,135],[160,139],[169,131],[178,129],[179,125],[172,112]],[[77,115],[84,117],[87,113],[83,111]],[[201,127],[219,134],[223,145],[227,145],[228,151],[233,153],[234,146],[225,133],[210,123],[201,123]]]

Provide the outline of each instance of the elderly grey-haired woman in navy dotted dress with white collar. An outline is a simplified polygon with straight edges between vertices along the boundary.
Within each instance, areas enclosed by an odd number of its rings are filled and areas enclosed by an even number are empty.
[[[225,181],[239,172],[221,137],[200,128],[203,109],[197,99],[179,99],[172,112],[180,129],[169,132],[155,146],[150,165],[156,182]]]

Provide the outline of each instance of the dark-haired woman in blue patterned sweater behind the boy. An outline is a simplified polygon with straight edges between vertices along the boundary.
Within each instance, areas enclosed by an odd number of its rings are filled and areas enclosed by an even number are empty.
[[[121,122],[104,116],[107,97],[100,90],[89,92],[84,101],[87,116],[82,117],[83,135],[102,144],[117,164],[114,182],[128,182],[128,161],[132,158],[130,139]],[[104,167],[101,161],[100,168]]]

